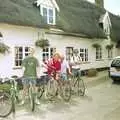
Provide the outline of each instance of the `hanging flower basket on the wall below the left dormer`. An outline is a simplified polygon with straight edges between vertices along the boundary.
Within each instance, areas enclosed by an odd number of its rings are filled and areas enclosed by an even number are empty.
[[[49,41],[47,39],[40,39],[40,40],[37,40],[35,42],[35,45],[37,47],[44,48],[44,47],[48,47],[50,44],[49,44]]]

